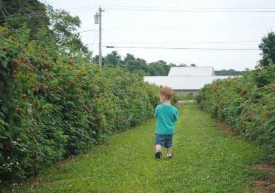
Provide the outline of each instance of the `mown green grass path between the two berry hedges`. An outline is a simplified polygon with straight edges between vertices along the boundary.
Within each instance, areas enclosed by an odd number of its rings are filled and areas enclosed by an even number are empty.
[[[252,192],[264,152],[221,133],[197,105],[178,107],[173,159],[154,160],[155,119],[43,170],[19,192]],[[166,150],[163,150],[166,155]],[[35,185],[35,186],[34,186]],[[34,187],[33,187],[34,186]]]

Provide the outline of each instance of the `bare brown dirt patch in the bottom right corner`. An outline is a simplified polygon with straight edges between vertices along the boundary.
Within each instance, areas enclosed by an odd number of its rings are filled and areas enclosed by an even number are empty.
[[[261,193],[275,192],[275,165],[272,163],[254,164],[254,168],[267,173],[268,179],[263,181],[254,181],[254,191]]]

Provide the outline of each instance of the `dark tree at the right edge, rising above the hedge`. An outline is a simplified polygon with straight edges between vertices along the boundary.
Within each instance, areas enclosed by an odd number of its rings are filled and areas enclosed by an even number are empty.
[[[269,63],[275,63],[275,34],[270,32],[267,37],[263,37],[262,42],[259,45],[262,50],[263,59],[260,60],[260,66],[265,67]]]

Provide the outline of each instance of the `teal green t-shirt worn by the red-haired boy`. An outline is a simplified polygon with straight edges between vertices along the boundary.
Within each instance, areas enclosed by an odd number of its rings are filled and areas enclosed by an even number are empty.
[[[175,132],[175,121],[177,121],[177,109],[172,105],[157,105],[155,108],[156,134],[173,134]]]

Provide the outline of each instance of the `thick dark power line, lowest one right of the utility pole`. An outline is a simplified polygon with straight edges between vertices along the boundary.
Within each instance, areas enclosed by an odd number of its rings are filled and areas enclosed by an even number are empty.
[[[136,47],[136,46],[111,46],[106,48],[139,48],[139,49],[163,49],[163,50],[260,50],[255,48],[166,48],[166,47]]]

